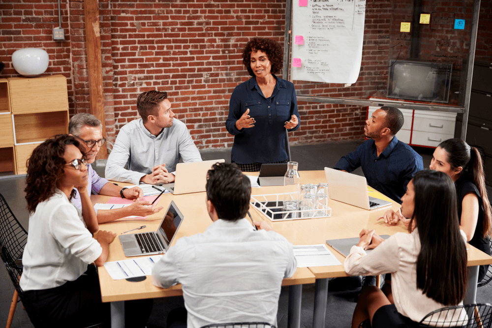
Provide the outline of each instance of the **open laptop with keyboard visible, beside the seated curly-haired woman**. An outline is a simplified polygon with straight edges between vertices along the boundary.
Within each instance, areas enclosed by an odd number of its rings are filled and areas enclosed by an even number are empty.
[[[157,231],[118,236],[124,255],[129,257],[165,253],[173,242],[181,223],[183,223],[183,214],[171,201]]]

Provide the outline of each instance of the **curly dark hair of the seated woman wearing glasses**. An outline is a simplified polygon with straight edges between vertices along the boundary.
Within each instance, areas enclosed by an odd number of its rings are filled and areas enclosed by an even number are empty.
[[[77,147],[85,157],[84,147],[75,137],[60,134],[37,146],[27,163],[26,200],[28,210],[33,213],[39,203],[44,202],[56,192],[57,182],[62,177],[63,166],[66,164],[63,155],[68,145]],[[72,191],[70,198],[75,195]]]

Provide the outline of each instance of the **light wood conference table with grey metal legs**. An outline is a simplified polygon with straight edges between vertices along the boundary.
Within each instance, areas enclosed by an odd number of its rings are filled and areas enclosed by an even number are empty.
[[[257,176],[258,173],[248,172],[249,176]],[[301,183],[326,182],[324,171],[300,171]],[[124,183],[118,182],[120,185]],[[275,194],[283,192],[283,186],[263,186],[251,188],[251,194]],[[369,192],[369,196],[388,199],[381,193]],[[92,195],[92,202],[106,203],[110,197]],[[177,239],[183,236],[191,236],[204,232],[212,224],[205,206],[205,192],[173,195],[162,195],[157,206],[167,208],[174,201],[184,215],[183,223],[177,232]],[[340,239],[358,237],[362,229],[374,229],[379,235],[393,235],[397,232],[406,232],[406,228],[400,222],[397,226],[387,226],[384,220],[377,220],[388,209],[398,210],[400,205],[393,202],[391,207],[366,210],[330,199],[328,206],[332,209],[330,217],[297,219],[272,222],[258,210],[250,207],[249,212],[255,221],[266,220],[274,230],[292,242],[294,245],[325,244],[327,239]],[[156,231],[160,223],[163,211],[149,216],[147,219],[123,218],[110,223],[101,224],[99,229],[109,230],[118,235],[123,231],[134,229],[145,224],[146,228],[139,232]],[[172,247],[171,245],[171,247]],[[328,246],[328,245],[327,245]],[[328,246],[335,257],[343,264],[344,256]],[[464,303],[474,303],[478,277],[478,266],[492,264],[492,257],[467,244],[468,249],[468,285]],[[109,246],[109,256],[106,261],[118,261],[126,259],[118,238]],[[289,286],[288,327],[300,327],[302,285],[315,283],[315,299],[313,313],[313,328],[325,327],[326,304],[328,297],[328,281],[335,277],[348,276],[343,265],[327,267],[297,268],[291,278],[286,278],[282,286]],[[155,287],[152,277],[147,276],[144,281],[130,282],[126,280],[113,280],[104,267],[99,268],[99,280],[103,302],[111,302],[111,326],[124,327],[124,300],[142,298],[160,298],[183,295],[181,285],[175,285],[167,289]]]

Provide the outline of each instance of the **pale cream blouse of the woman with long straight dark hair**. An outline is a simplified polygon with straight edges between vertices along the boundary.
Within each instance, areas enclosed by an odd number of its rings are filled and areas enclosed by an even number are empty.
[[[420,253],[420,238],[417,229],[411,234],[396,233],[383,241],[369,254],[362,247],[352,246],[343,264],[345,272],[354,275],[377,275],[391,273],[391,291],[398,312],[415,322],[446,305],[428,298],[417,289],[417,257]],[[443,268],[445,270],[447,268]],[[460,302],[460,305],[463,302]],[[466,319],[461,313],[454,319]],[[442,321],[445,318],[439,318]]]

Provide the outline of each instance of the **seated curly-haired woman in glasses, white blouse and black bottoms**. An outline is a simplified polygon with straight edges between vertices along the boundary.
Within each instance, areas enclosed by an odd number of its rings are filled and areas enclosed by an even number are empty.
[[[101,303],[97,273],[88,265],[104,264],[116,235],[98,231],[87,192],[84,153],[74,137],[58,135],[36,147],[28,162],[29,233],[20,285],[35,308],[40,327],[87,327],[109,321],[109,306]],[[79,191],[82,210],[70,203],[74,188]],[[150,314],[151,309],[146,312]],[[145,326],[147,318],[130,327]]]

